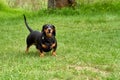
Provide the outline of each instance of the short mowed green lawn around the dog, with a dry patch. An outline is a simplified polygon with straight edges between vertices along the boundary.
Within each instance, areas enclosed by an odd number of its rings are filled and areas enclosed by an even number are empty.
[[[120,15],[26,15],[32,29],[54,24],[57,56],[25,53],[23,17],[0,19],[0,80],[119,80]]]

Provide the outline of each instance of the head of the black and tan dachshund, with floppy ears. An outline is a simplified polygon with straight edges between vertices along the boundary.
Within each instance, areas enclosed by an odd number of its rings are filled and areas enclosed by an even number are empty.
[[[51,24],[43,25],[42,32],[49,38],[52,36],[56,36],[55,26]]]

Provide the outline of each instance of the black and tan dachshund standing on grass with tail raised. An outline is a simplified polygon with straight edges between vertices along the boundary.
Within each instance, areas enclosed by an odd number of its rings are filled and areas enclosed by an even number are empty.
[[[56,56],[57,40],[55,38],[55,26],[52,24],[45,24],[43,25],[41,32],[37,30],[32,30],[27,23],[26,16],[23,16],[25,25],[30,32],[30,34],[26,38],[26,52],[28,52],[31,45],[35,45],[36,49],[38,49],[40,53],[40,57],[44,56],[44,52],[50,52],[51,50],[52,55]]]

